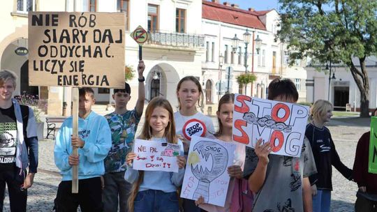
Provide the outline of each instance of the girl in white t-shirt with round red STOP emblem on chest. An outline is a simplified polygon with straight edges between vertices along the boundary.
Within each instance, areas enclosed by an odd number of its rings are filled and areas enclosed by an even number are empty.
[[[198,112],[196,105],[202,107],[203,91],[199,80],[193,76],[183,77],[177,85],[179,110],[175,112],[175,130],[177,136],[184,142],[184,153],[187,155],[192,135],[209,137],[214,133],[212,119]],[[198,212],[191,199],[183,199],[184,212]]]

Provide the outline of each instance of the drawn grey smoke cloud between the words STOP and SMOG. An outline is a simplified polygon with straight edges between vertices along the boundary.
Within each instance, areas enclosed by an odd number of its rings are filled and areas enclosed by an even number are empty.
[[[269,115],[258,118],[256,117],[256,114],[253,114],[253,112],[246,112],[244,113],[244,120],[247,123],[255,124],[260,127],[272,128],[272,130],[284,131],[286,133],[292,131],[292,126],[288,126],[283,122],[276,122]]]

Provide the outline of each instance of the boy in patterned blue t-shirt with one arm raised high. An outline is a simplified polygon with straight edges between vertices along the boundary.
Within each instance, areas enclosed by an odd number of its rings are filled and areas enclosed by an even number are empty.
[[[138,102],[132,110],[127,109],[127,103],[131,99],[131,87],[125,83],[125,89],[114,89],[112,98],[115,101],[115,111],[105,115],[108,120],[112,147],[105,158],[105,188],[103,189],[103,204],[105,211],[117,211],[119,198],[119,211],[126,212],[128,194],[131,184],[124,180],[126,172],[126,155],[130,151],[135,138],[138,123],[142,116],[145,100],[145,87],[142,73],[145,70],[143,61],[138,65]]]

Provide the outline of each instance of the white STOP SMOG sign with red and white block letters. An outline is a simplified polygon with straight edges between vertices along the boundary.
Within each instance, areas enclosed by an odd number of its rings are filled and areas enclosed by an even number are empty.
[[[300,157],[308,116],[304,105],[236,94],[233,140],[255,148],[262,138],[271,142],[272,154]]]

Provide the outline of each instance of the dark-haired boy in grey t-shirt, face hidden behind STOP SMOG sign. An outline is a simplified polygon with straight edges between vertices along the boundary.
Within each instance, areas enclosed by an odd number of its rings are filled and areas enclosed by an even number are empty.
[[[276,78],[268,86],[268,99],[296,103],[297,89],[290,79]],[[271,144],[258,139],[256,148],[246,148],[244,176],[256,192],[253,211],[312,211],[309,176],[316,173],[308,139],[300,158],[269,154]],[[287,189],[288,188],[288,189]]]

